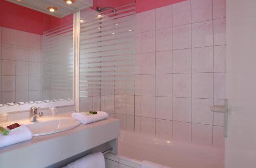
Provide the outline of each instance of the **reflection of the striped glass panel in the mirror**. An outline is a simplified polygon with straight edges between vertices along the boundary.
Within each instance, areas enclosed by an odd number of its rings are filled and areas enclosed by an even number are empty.
[[[42,39],[42,100],[72,98],[73,20],[44,32]]]

